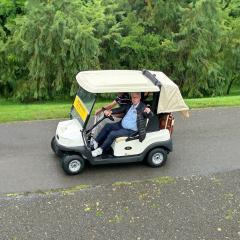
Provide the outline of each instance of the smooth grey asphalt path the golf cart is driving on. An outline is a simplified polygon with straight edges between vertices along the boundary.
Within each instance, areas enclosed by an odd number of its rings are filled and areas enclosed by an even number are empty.
[[[158,169],[144,164],[87,166],[67,176],[50,147],[59,120],[0,124],[0,194],[102,185],[159,176],[208,176],[240,169],[240,108],[175,115],[173,152]]]

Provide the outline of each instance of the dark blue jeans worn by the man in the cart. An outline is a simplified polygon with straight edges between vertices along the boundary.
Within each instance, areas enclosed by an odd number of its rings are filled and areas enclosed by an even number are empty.
[[[96,137],[96,141],[98,142],[98,146],[105,151],[116,138],[123,136],[128,137],[134,132],[135,131],[131,129],[123,128],[121,122],[107,123]]]

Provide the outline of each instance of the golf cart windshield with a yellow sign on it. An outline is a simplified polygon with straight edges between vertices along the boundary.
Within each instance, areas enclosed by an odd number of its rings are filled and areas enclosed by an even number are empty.
[[[87,92],[81,87],[79,88],[73,103],[71,115],[73,118],[78,119],[82,126],[84,126],[92,110],[95,99],[95,94]]]

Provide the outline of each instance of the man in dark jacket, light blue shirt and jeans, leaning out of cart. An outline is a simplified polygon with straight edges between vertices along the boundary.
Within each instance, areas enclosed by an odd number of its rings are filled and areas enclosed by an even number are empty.
[[[110,116],[111,114],[124,113],[122,121],[117,123],[106,124],[101,132],[96,137],[94,143],[95,149],[92,151],[92,156],[96,157],[106,151],[113,141],[122,136],[130,136],[138,131],[139,141],[143,141],[146,136],[146,118],[153,115],[150,108],[147,108],[141,100],[141,93],[131,94],[132,104],[125,105],[113,110],[105,110],[104,114]]]

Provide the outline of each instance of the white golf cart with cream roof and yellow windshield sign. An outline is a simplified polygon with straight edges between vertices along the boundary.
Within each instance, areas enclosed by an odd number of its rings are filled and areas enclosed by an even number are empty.
[[[51,141],[52,150],[60,157],[63,170],[69,175],[80,173],[86,161],[92,165],[146,161],[151,167],[161,167],[172,151],[172,112],[188,115],[178,86],[164,73],[136,70],[83,71],[77,74],[79,90],[76,94],[70,120],[59,122]],[[109,152],[92,157],[91,137],[95,124],[93,108],[100,93],[142,92],[148,97],[142,101],[151,108],[154,116],[146,125],[146,137],[140,142],[138,133],[119,137]],[[114,121],[113,116],[108,117]]]

